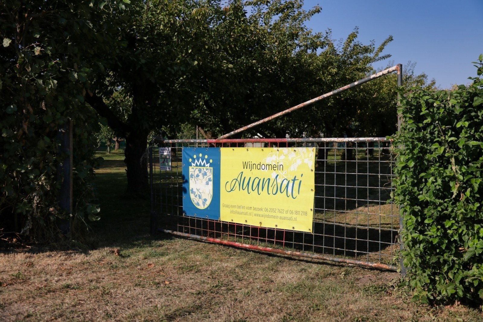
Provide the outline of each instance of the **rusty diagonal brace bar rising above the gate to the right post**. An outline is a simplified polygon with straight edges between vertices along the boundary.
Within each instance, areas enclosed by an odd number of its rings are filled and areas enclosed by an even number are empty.
[[[402,65],[400,65],[400,64],[399,64],[399,65],[397,65],[397,66],[393,66],[393,67],[388,68],[388,69],[386,69],[386,70],[380,71],[380,72],[378,72],[378,73],[376,73],[376,74],[372,74],[372,75],[370,75],[369,77],[366,77],[366,78],[363,78],[363,79],[361,79],[361,80],[358,80],[358,81],[356,81],[356,82],[354,82],[354,83],[351,83],[351,84],[348,84],[348,85],[342,86],[341,88],[338,88],[338,89],[336,89],[336,90],[333,90],[332,92],[328,92],[328,93],[326,93],[326,94],[324,94],[324,95],[321,95],[321,96],[319,96],[319,97],[312,98],[311,100],[308,100],[308,101],[306,101],[306,102],[303,102],[303,103],[301,103],[301,104],[298,104],[298,105],[296,105],[296,106],[294,106],[294,107],[291,107],[291,108],[289,108],[289,109],[287,109],[287,110],[285,110],[285,111],[278,112],[278,113],[273,114],[273,115],[271,115],[271,116],[269,116],[269,117],[266,117],[266,118],[264,118],[264,119],[262,119],[262,120],[256,121],[255,123],[252,123],[252,124],[247,125],[247,126],[243,126],[243,127],[239,128],[238,130],[234,130],[234,131],[231,131],[231,132],[229,132],[229,133],[227,133],[227,134],[222,135],[221,137],[219,137],[219,138],[218,138],[218,140],[220,140],[220,139],[226,139],[226,138],[228,138],[228,137],[230,137],[230,136],[232,136],[232,135],[235,135],[235,134],[237,134],[237,133],[243,132],[243,131],[245,131],[245,130],[247,130],[247,129],[249,129],[249,128],[252,128],[252,127],[258,126],[258,125],[260,125],[260,124],[263,124],[263,123],[265,123],[265,122],[271,121],[271,120],[273,120],[273,119],[275,119],[275,118],[277,118],[277,117],[279,117],[279,116],[282,116],[282,115],[288,114],[288,113],[290,113],[290,112],[296,111],[296,110],[298,110],[298,109],[300,109],[300,108],[302,108],[302,107],[304,107],[304,106],[311,105],[311,104],[313,104],[313,103],[315,103],[315,102],[317,102],[317,101],[319,101],[319,100],[321,100],[321,99],[324,99],[324,98],[330,97],[330,96],[335,95],[335,94],[339,94],[339,93],[341,93],[341,92],[343,92],[343,91],[345,91],[345,90],[348,90],[348,89],[353,88],[353,87],[355,87],[355,86],[358,86],[358,85],[360,85],[360,84],[367,83],[367,82],[369,82],[369,81],[371,81],[371,80],[373,80],[373,79],[376,79],[376,78],[378,78],[378,77],[381,77],[381,76],[387,75],[387,74],[389,74],[389,73],[392,73],[393,71],[398,70],[398,69],[399,69],[399,66],[402,66]]]

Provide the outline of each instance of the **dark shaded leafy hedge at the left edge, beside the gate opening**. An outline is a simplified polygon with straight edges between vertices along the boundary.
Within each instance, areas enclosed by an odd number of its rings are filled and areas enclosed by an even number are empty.
[[[84,102],[86,12],[71,1],[6,0],[0,23],[0,237],[52,241],[58,219],[96,219],[97,116]],[[84,6],[87,6],[85,4]],[[78,40],[79,42],[75,42]],[[58,130],[73,121],[73,213],[57,205]],[[61,180],[61,179],[60,179]],[[83,224],[83,227],[86,227]],[[72,231],[71,231],[72,232]],[[73,231],[74,235],[78,231]]]

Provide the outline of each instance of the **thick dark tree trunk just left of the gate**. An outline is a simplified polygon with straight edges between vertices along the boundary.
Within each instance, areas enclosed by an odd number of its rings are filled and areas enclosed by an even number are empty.
[[[146,131],[131,131],[126,136],[124,162],[128,177],[127,194],[134,198],[149,197],[148,155],[146,154],[148,134]]]

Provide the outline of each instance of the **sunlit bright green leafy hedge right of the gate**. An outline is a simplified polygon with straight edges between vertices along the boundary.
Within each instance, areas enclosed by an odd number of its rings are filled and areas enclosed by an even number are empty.
[[[401,93],[394,199],[407,281],[423,303],[483,304],[483,80],[471,80]]]

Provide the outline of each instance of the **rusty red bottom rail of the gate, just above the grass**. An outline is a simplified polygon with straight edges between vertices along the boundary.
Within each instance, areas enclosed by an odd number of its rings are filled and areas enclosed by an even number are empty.
[[[292,255],[292,256],[307,257],[307,258],[313,258],[313,259],[321,259],[321,260],[325,260],[325,261],[346,263],[346,264],[352,264],[352,265],[358,265],[358,266],[367,266],[367,267],[387,269],[387,270],[393,270],[393,271],[398,270],[398,266],[386,265],[386,264],[382,264],[382,263],[370,263],[370,262],[358,261],[358,260],[355,260],[355,259],[347,259],[347,258],[339,258],[339,257],[319,255],[319,254],[311,254],[311,253],[308,253],[308,252],[285,251],[285,250],[281,250],[281,249],[277,249],[277,248],[250,245],[250,244],[242,244],[242,243],[239,243],[239,242],[236,242],[236,241],[222,240],[222,239],[218,239],[218,238],[198,236],[198,235],[193,235],[193,234],[186,234],[186,233],[167,230],[167,229],[159,229],[159,230],[164,232],[164,233],[172,234],[172,235],[176,235],[176,236],[199,239],[199,240],[209,241],[209,242],[213,242],[213,243],[217,243],[217,244],[229,245],[229,246],[246,248],[246,249],[253,249],[253,250],[257,250],[257,251],[274,252],[274,253],[284,254],[284,255]]]

